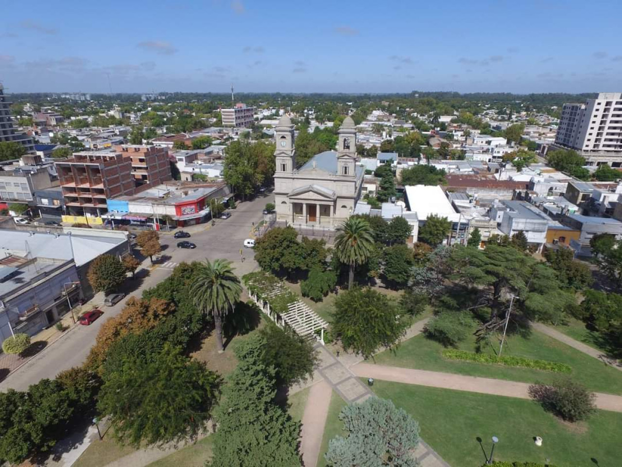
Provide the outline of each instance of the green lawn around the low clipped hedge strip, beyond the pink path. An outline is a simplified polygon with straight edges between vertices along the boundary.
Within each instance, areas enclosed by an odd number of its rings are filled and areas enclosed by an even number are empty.
[[[492,342],[492,345],[498,350],[499,343],[497,339],[493,339]],[[466,351],[474,351],[475,337],[470,335],[458,347]],[[375,357],[375,362],[388,366],[521,382],[552,382],[559,375],[563,375],[534,369],[445,360],[441,355],[442,350],[443,346],[438,342],[432,341],[420,334],[406,342],[402,342],[395,352],[381,352]],[[487,346],[483,351],[493,353],[493,348]],[[564,362],[572,367],[572,378],[581,382],[589,389],[610,394],[622,394],[622,372],[620,370],[606,366],[603,362],[599,362],[593,357],[587,356],[537,331],[531,333],[529,337],[516,335],[509,337],[504,344],[503,354]]]

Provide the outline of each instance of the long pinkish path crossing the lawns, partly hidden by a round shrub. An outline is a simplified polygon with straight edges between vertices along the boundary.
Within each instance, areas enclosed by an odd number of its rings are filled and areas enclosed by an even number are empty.
[[[388,367],[360,363],[351,368],[364,378],[374,378],[404,384],[439,387],[480,394],[502,395],[505,397],[529,397],[529,383],[506,381],[502,379],[480,378],[476,376],[442,373],[439,371],[413,370],[409,368]],[[622,412],[622,396],[596,392],[596,407],[611,412]]]

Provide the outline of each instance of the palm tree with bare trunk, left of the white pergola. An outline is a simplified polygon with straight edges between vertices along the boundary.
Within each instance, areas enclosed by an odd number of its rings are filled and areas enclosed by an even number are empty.
[[[214,318],[218,353],[223,352],[223,316],[233,310],[239,300],[242,286],[231,269],[231,262],[209,260],[201,263],[192,278],[190,293],[194,303],[203,313],[210,313]]]

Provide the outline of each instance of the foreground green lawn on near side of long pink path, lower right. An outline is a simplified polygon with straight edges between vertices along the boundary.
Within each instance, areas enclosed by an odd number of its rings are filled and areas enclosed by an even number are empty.
[[[376,380],[374,392],[409,412],[422,438],[452,467],[485,462],[478,436],[490,454],[491,436],[499,443],[495,460],[532,461],[559,467],[620,465],[622,413],[598,410],[587,422],[560,422],[531,400]],[[534,444],[542,436],[543,445]]]

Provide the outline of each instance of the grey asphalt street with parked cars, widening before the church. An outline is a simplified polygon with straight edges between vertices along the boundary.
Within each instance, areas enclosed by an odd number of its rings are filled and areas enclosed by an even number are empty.
[[[268,202],[274,202],[274,196],[260,196],[249,202],[243,202],[237,209],[231,209],[229,219],[217,219],[215,225],[201,224],[187,227],[187,232],[192,235],[190,238],[174,238],[172,232],[162,232],[160,243],[162,244],[162,255],[159,259],[154,258],[155,268],[151,268],[149,260],[142,264],[142,267],[151,270],[148,275],[142,271],[142,283],[121,300],[118,304],[111,307],[103,305],[103,297],[100,295],[91,301],[98,308],[104,311],[103,316],[90,326],[74,326],[66,335],[60,337],[56,342],[47,346],[37,356],[27,364],[9,374],[0,382],[0,390],[9,388],[25,390],[30,384],[35,384],[44,378],[53,378],[58,372],[79,366],[85,361],[91,346],[95,342],[95,337],[106,319],[118,314],[123,309],[129,296],[140,297],[145,288],[157,285],[160,281],[167,278],[174,267],[181,262],[192,262],[195,260],[215,260],[225,258],[233,262],[238,276],[254,270],[254,253],[251,248],[244,248],[244,239],[251,238],[253,223],[257,225],[262,219],[262,210]],[[188,240],[197,245],[192,250],[177,248],[177,242]],[[240,255],[240,250],[242,255]],[[242,261],[242,257],[244,261]],[[141,271],[137,271],[141,276]],[[139,279],[140,280],[140,279]],[[131,280],[128,279],[131,287]],[[98,300],[99,299],[99,300]],[[90,303],[86,308],[90,308]]]

